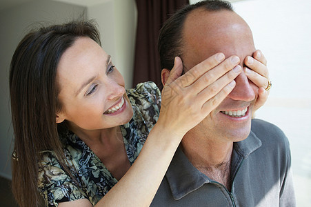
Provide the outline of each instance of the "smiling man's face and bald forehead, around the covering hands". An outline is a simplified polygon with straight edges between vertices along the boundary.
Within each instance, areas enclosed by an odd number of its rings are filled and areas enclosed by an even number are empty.
[[[239,15],[228,10],[208,12],[199,8],[190,12],[183,28],[183,43],[181,59],[185,68],[192,68],[217,52],[223,52],[226,58],[239,56],[243,68],[245,57],[255,51],[250,28]],[[248,137],[258,87],[244,72],[235,81],[234,90],[193,130],[222,141]]]

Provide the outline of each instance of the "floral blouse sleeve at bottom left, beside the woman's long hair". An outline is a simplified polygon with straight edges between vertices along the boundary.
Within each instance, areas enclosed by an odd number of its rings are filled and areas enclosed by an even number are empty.
[[[43,159],[39,163],[38,188],[46,206],[58,206],[59,202],[88,199],[79,183],[62,169],[50,151],[44,152]]]

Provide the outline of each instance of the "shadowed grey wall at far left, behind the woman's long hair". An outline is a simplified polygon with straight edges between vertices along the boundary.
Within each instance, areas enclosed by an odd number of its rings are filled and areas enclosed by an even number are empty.
[[[32,1],[0,11],[0,175],[10,179],[12,126],[9,107],[8,73],[10,60],[26,28],[35,23],[60,23],[80,17],[85,8],[56,1]],[[30,26],[30,27],[29,27]]]

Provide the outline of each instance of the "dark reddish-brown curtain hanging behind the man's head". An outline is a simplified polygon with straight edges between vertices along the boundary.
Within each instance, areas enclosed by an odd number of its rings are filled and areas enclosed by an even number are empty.
[[[136,0],[137,34],[134,57],[133,86],[154,81],[162,88],[157,39],[163,22],[189,0]]]

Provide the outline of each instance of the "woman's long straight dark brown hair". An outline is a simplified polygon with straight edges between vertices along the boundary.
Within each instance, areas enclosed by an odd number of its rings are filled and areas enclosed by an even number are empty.
[[[77,37],[90,37],[100,45],[99,32],[91,21],[72,21],[39,28],[24,37],[10,66],[10,102],[14,129],[12,191],[19,206],[39,206],[37,189],[40,152],[53,150],[66,172],[56,114],[57,66]]]

